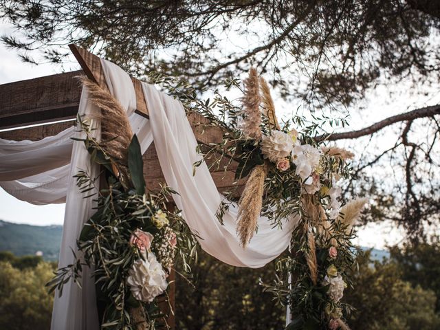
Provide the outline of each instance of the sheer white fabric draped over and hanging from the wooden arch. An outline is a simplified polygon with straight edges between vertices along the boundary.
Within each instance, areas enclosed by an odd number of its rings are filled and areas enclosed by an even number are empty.
[[[129,115],[142,152],[154,140],[166,182],[179,192],[173,196],[175,203],[184,213],[190,229],[201,237],[199,243],[203,250],[239,267],[262,267],[281,254],[289,245],[292,228],[298,219],[285,221],[283,229],[279,230],[262,217],[258,233],[246,249],[241,248],[235,232],[236,205],[232,204],[221,225],[215,214],[224,197],[217,192],[206,164],[197,168],[192,176],[192,164],[200,155],[196,153],[197,141],[181,103],[144,83],[142,88],[150,115],[150,120],[146,120],[133,112],[136,97],[128,74],[108,61],[102,60],[102,67],[111,94],[118,98]],[[87,115],[95,111],[98,109],[91,105],[87,91],[83,90],[79,113]],[[84,144],[71,140],[78,134],[72,127],[37,142],[0,139],[1,187],[30,203],[66,201],[60,267],[72,263],[70,248],[76,250],[76,239],[83,223],[93,212],[92,199],[83,198],[73,178],[80,169],[89,170],[92,177],[98,174],[97,166],[90,164]],[[82,281],[83,289],[68,283],[63,296],[55,299],[52,330],[98,329],[90,270],[85,270]]]

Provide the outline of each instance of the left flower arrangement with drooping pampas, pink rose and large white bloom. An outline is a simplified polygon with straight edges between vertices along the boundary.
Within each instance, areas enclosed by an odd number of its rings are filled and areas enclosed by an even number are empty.
[[[61,295],[67,281],[80,285],[83,267],[92,267],[102,328],[166,329],[159,300],[166,303],[168,275],[177,257],[189,270],[187,261],[195,256],[197,241],[179,210],[170,209],[168,197],[177,192],[166,186],[155,194],[146,192],[140,145],[118,101],[89,80],[84,83],[92,102],[101,107],[103,116],[107,114],[100,141],[92,134],[94,120],[77,119],[85,135],[80,141],[91,161],[102,166],[104,187],[101,179],[98,190],[98,178],[85,170],[76,175],[80,191],[96,200],[96,212],[80,234],[75,262],[59,269],[48,285]],[[125,129],[111,136],[115,125]]]

